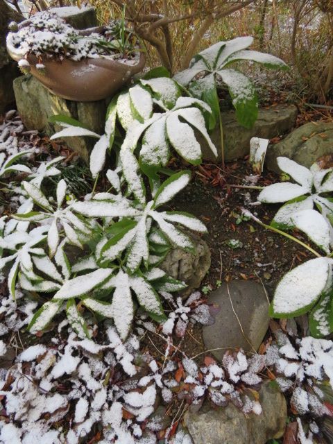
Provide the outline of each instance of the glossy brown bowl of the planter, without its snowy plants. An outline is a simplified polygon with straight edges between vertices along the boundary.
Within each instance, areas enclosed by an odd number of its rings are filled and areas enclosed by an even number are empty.
[[[9,54],[17,62],[23,58],[14,53]],[[39,61],[31,55],[27,60],[31,74],[53,94],[64,99],[91,102],[112,96],[129,78],[142,71],[146,55],[140,53],[136,65],[106,58],[86,58],[79,62],[65,59],[60,62],[46,57]],[[36,68],[40,62],[45,67],[42,70]]]

